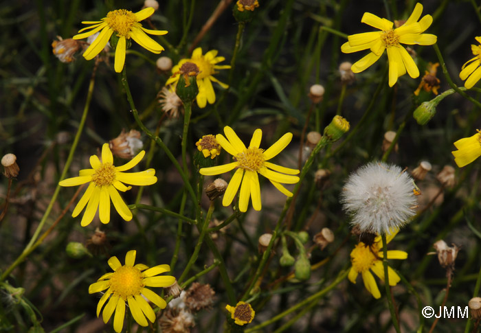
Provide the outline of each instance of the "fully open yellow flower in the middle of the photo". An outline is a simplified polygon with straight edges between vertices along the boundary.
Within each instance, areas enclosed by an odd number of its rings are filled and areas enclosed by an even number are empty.
[[[224,198],[222,200],[224,206],[228,206],[232,203],[240,183],[242,183],[239,194],[240,211],[247,211],[249,197],[252,198],[252,207],[256,210],[260,210],[262,205],[260,203],[258,174],[262,174],[262,176],[269,179],[269,181],[286,196],[292,196],[292,193],[280,183],[298,183],[299,177],[292,175],[298,174],[299,170],[285,168],[281,165],[268,162],[269,159],[276,157],[277,154],[287,147],[289,142],[291,142],[292,133],[282,135],[282,137],[267,150],[259,148],[260,139],[262,139],[262,130],[260,130],[260,128],[254,131],[248,148],[245,147],[243,141],[240,141],[234,130],[229,126],[224,127],[224,133],[227,139],[223,135],[218,134],[216,135],[216,141],[226,152],[231,154],[236,161],[225,165],[214,166],[212,168],[201,168],[201,170],[199,170],[204,176],[214,176],[237,168],[227,186],[227,190],[225,190]]]

